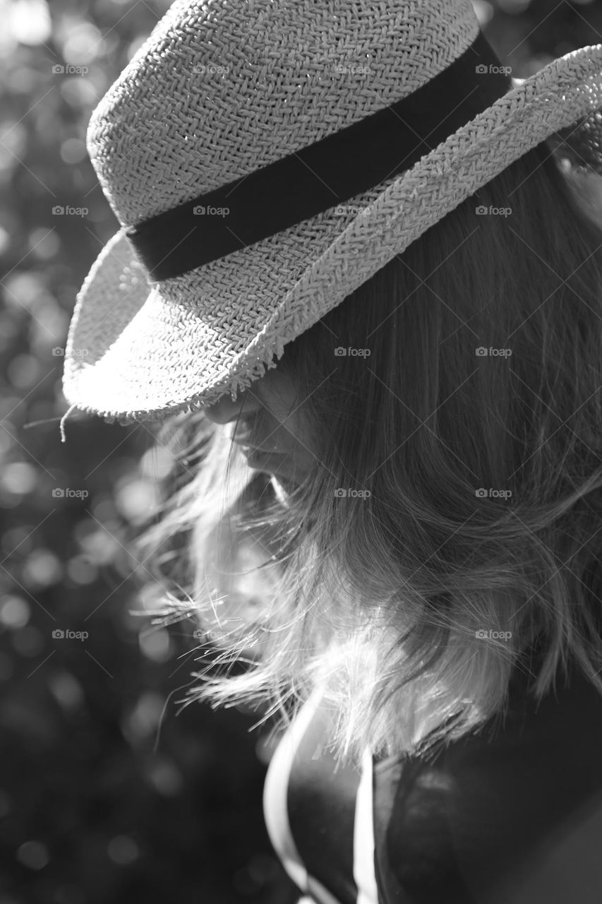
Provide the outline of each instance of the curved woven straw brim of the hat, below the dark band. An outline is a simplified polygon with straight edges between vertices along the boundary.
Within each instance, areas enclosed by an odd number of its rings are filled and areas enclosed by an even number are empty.
[[[325,211],[182,277],[149,283],[118,231],[77,298],[65,397],[124,422],[236,398],[288,342],[447,212],[601,106],[598,44],[513,79],[503,98],[406,173],[345,202],[343,213]]]

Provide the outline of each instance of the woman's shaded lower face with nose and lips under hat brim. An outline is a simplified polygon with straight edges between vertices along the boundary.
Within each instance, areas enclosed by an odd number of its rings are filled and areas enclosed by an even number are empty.
[[[205,413],[216,424],[231,422],[229,435],[249,466],[272,474],[286,489],[301,483],[315,467],[303,405],[293,383],[277,368],[239,392],[236,401],[222,396]]]

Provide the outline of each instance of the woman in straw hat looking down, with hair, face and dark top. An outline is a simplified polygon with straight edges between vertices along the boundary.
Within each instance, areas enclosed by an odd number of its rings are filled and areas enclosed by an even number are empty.
[[[176,3],[110,89],[65,394],[166,418],[146,605],[287,728],[304,899],[598,901],[602,45],[519,82],[469,0],[346,10]]]

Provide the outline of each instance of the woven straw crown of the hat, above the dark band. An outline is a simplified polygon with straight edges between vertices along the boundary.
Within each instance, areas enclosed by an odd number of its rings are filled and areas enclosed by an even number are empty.
[[[89,156],[133,226],[408,97],[478,33],[472,0],[176,0],[93,111]]]

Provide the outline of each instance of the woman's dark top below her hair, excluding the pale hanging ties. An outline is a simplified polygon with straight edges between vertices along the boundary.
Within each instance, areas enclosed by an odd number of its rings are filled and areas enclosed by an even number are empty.
[[[379,904],[602,904],[602,695],[573,665],[538,705],[528,677],[514,673],[504,720],[427,757],[372,758]],[[359,775],[311,756],[302,741],[290,830],[306,870],[356,904]]]

